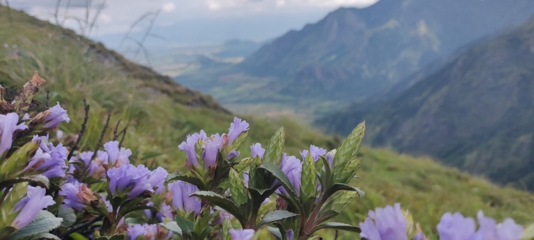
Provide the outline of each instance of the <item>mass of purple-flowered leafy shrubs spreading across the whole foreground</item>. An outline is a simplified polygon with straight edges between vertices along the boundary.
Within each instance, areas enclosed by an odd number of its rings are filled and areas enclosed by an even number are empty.
[[[168,173],[139,164],[142,157],[121,146],[118,135],[105,142],[109,121],[99,142],[80,144],[86,123],[65,136],[58,128],[70,117],[59,103],[29,112],[42,83],[35,74],[14,99],[0,98],[0,239],[67,239],[77,232],[76,239],[252,240],[268,230],[293,240],[333,229],[367,240],[428,240],[399,204],[370,211],[359,227],[330,222],[364,196],[350,185],[361,163],[364,123],[331,151],[311,145],[300,156],[288,154],[280,128],[241,156],[250,125],[236,117],[227,133],[188,135],[178,146],[186,173]],[[510,218],[496,223],[483,212],[477,218],[478,229],[473,218],[444,214],[439,239],[519,240],[524,232]]]

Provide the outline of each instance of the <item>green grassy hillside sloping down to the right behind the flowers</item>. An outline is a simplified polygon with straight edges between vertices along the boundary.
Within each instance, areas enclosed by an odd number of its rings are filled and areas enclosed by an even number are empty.
[[[229,127],[233,115],[218,107],[210,107],[217,106],[215,102],[200,105],[178,101],[194,97],[185,98],[184,93],[161,91],[167,85],[177,86],[173,83],[159,81],[156,83],[161,88],[151,87],[147,79],[131,74],[131,71],[147,69],[124,60],[102,60],[103,54],[112,53],[102,46],[99,52],[91,51],[91,46],[96,44],[83,37],[72,37],[70,31],[21,12],[11,12],[14,26],[10,26],[5,12],[6,8],[0,8],[0,43],[8,44],[8,47],[0,48],[1,83],[20,87],[31,78],[34,70],[38,70],[48,81],[42,89],[50,90],[51,102],[60,101],[69,111],[72,121],[62,126],[67,134],[79,131],[83,116],[82,101],[87,98],[91,111],[90,135],[86,135],[82,142],[86,146],[96,144],[99,130],[95,129],[102,129],[106,114],[111,112],[112,128],[119,119],[122,119],[121,128],[129,126],[124,145],[133,151],[133,160],[179,171],[185,155],[178,151],[177,145],[187,133],[200,129],[209,133],[224,132]],[[129,68],[125,68],[125,64]],[[163,78],[156,74],[153,76]],[[45,96],[44,91],[40,92],[41,101]],[[209,99],[206,96],[202,98]],[[340,144],[339,138],[322,135],[302,123],[286,119],[245,119],[251,123],[251,135],[245,145],[252,142],[266,144],[280,126],[286,128],[286,151],[292,155],[297,155],[309,144],[323,148],[334,148]],[[111,132],[106,139],[110,137]],[[249,154],[248,149],[242,150],[242,154]],[[481,208],[487,215],[499,220],[512,216],[522,224],[534,222],[534,216],[530,214],[534,211],[534,196],[526,192],[496,187],[485,180],[440,166],[430,159],[414,159],[366,147],[362,148],[362,157],[359,172],[362,180],[355,180],[354,185],[362,187],[366,196],[352,203],[340,216],[343,218],[341,221],[357,224],[369,209],[401,202],[412,210],[427,232],[432,231],[439,216],[453,209],[474,216],[476,209]],[[347,233],[341,236],[340,239],[354,239]]]

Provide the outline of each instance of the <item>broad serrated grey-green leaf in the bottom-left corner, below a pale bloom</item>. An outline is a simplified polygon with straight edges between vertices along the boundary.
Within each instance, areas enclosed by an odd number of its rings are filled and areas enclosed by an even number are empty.
[[[18,232],[15,232],[15,234],[11,235],[8,240],[22,239],[43,232],[50,232],[51,230],[58,228],[61,225],[61,221],[63,221],[63,218],[56,218],[54,214],[41,210],[30,224],[26,225],[26,227]]]

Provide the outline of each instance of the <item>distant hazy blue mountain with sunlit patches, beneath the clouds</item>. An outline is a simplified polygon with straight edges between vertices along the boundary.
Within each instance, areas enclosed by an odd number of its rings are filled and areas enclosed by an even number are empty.
[[[335,10],[229,69],[198,69],[176,79],[230,108],[259,102],[329,110],[382,96],[430,62],[533,14],[530,0],[381,0]]]

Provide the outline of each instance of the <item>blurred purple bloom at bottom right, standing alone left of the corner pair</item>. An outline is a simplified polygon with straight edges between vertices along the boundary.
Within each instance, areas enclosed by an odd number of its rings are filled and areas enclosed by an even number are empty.
[[[395,203],[395,207],[378,207],[375,212],[369,211],[369,218],[359,223],[359,228],[362,229],[359,235],[368,240],[407,240],[406,225],[401,204]]]

